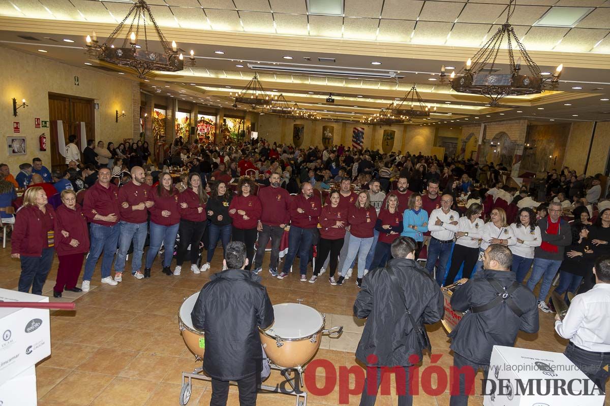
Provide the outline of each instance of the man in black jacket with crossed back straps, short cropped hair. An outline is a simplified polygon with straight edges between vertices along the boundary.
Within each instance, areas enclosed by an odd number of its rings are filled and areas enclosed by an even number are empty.
[[[459,374],[458,388],[451,388],[450,406],[466,406],[468,393],[466,376],[470,385],[476,371],[481,368],[487,379],[489,360],[494,345],[515,345],[519,330],[526,333],[538,331],[536,297],[515,280],[511,271],[512,254],[505,245],[491,244],[483,256],[484,271],[466,282],[451,296],[451,307],[466,313],[458,326],[449,334],[453,338],[455,368],[472,368],[472,374]],[[459,369],[456,369],[456,371]]]

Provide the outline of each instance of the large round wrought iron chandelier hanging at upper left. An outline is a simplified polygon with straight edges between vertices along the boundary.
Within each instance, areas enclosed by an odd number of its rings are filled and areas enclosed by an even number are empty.
[[[113,42],[117,40],[126,22],[130,20],[129,29],[123,44],[115,47]],[[157,38],[163,48],[163,52],[156,52],[149,49],[149,38],[146,32],[146,25],[151,24],[157,34]],[[142,44],[143,37],[143,45]],[[138,44],[140,39],[140,44]],[[123,18],[117,28],[106,39],[106,42],[99,45],[95,31],[92,35],[87,35],[87,50],[91,55],[96,55],[99,60],[112,63],[113,65],[132,68],[138,73],[138,77],[145,79],[146,74],[151,71],[177,72],[184,69],[184,56],[178,52],[175,41],[171,44],[165,39],[165,35],[157,26],[152,16],[151,9],[145,0],[138,0],[132,5],[129,12]],[[195,65],[195,52],[190,51],[191,66]]]

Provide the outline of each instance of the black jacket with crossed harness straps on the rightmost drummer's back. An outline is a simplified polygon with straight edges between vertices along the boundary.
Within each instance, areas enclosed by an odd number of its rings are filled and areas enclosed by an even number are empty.
[[[476,273],[453,293],[451,307],[458,312],[465,312],[473,306],[483,306],[492,301],[498,293],[486,279],[495,279],[508,289],[515,281],[515,273],[495,270]],[[506,303],[484,312],[468,312],[449,335],[453,338],[450,348],[472,362],[489,365],[494,345],[512,347],[519,330],[526,333],[537,332],[538,306],[531,290],[520,285],[511,298],[522,310],[521,317]]]

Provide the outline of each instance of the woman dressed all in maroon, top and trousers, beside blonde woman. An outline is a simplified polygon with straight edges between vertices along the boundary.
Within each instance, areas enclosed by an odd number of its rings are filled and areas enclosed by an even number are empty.
[[[55,231],[57,258],[57,278],[53,287],[53,297],[62,297],[63,290],[82,292],[76,287],[81,275],[85,253],[89,251],[89,230],[82,207],[76,203],[76,193],[71,189],[62,192],[62,205],[55,211]]]

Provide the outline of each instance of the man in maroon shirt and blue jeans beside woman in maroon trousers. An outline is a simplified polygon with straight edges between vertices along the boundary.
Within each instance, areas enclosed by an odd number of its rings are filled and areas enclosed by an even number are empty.
[[[118,284],[110,276],[110,268],[115,252],[117,252],[118,236],[121,232],[121,226],[118,223],[121,216],[121,205],[118,199],[118,187],[110,183],[110,178],[112,178],[110,169],[99,169],[98,180],[87,190],[82,205],[85,217],[91,223],[91,247],[87,261],[85,261],[85,273],[82,276],[83,292],[89,292],[91,277],[102,251],[104,258],[102,259],[101,282],[112,286]]]

